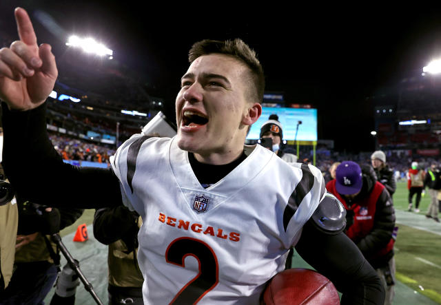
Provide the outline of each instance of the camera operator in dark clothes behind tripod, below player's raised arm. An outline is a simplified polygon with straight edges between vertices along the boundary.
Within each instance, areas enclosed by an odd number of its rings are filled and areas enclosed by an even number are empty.
[[[83,209],[50,208],[17,194],[19,225],[14,271],[0,304],[41,304],[59,271],[59,251],[49,235],[74,223]]]

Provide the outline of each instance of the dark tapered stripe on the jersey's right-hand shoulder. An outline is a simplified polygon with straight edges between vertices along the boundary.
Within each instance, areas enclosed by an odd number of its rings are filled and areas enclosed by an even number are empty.
[[[285,211],[283,211],[283,228],[285,229],[285,232],[287,231],[289,221],[297,211],[298,205],[302,202],[307,193],[311,191],[312,186],[314,185],[314,175],[311,173],[308,165],[302,164],[301,169],[302,179],[298,182],[296,189],[291,193],[287,207],[285,207]]]

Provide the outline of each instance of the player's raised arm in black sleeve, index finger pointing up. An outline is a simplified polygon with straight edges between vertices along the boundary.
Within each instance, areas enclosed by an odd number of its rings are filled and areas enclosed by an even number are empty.
[[[46,132],[45,100],[57,66],[50,45],[37,45],[28,13],[15,10],[19,41],[0,50],[3,167],[25,200],[52,207],[95,209],[122,203],[112,169],[65,164]]]

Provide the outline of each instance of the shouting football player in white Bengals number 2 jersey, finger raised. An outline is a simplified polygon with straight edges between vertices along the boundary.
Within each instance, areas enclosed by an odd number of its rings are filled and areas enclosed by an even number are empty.
[[[137,134],[112,168],[77,168],[63,163],[45,130],[45,99],[57,78],[50,45],[37,45],[25,10],[15,17],[20,40],[0,51],[5,170],[37,202],[125,204],[139,213],[145,304],[258,304],[293,246],[334,282],[342,302],[383,302],[378,276],[342,233],[345,209],[320,171],[243,145],[264,92],[262,67],[243,41],[192,47],[176,97],[176,136]]]

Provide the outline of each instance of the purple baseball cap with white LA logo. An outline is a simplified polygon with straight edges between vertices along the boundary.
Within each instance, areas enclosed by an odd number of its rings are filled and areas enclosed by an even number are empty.
[[[363,185],[360,165],[353,161],[343,161],[336,169],[336,189],[342,195],[353,195]]]

